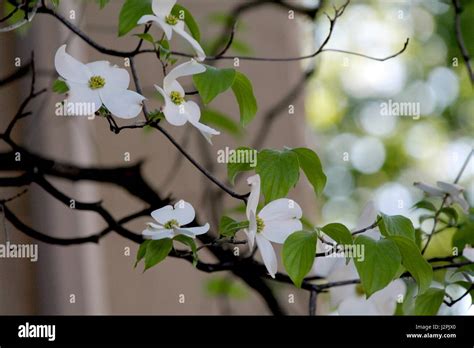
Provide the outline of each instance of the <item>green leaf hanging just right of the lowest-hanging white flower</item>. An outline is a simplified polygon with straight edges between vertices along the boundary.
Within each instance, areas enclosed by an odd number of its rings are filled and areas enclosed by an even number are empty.
[[[283,265],[297,287],[301,287],[313,266],[317,240],[316,232],[299,231],[292,233],[283,244]]]

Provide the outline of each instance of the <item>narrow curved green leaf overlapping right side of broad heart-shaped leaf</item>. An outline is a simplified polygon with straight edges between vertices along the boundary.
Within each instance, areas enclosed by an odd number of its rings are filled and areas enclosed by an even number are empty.
[[[402,265],[410,272],[418,283],[419,294],[425,292],[433,279],[433,268],[423,258],[416,244],[403,236],[390,236],[390,240],[397,243],[398,250],[402,255]]]

